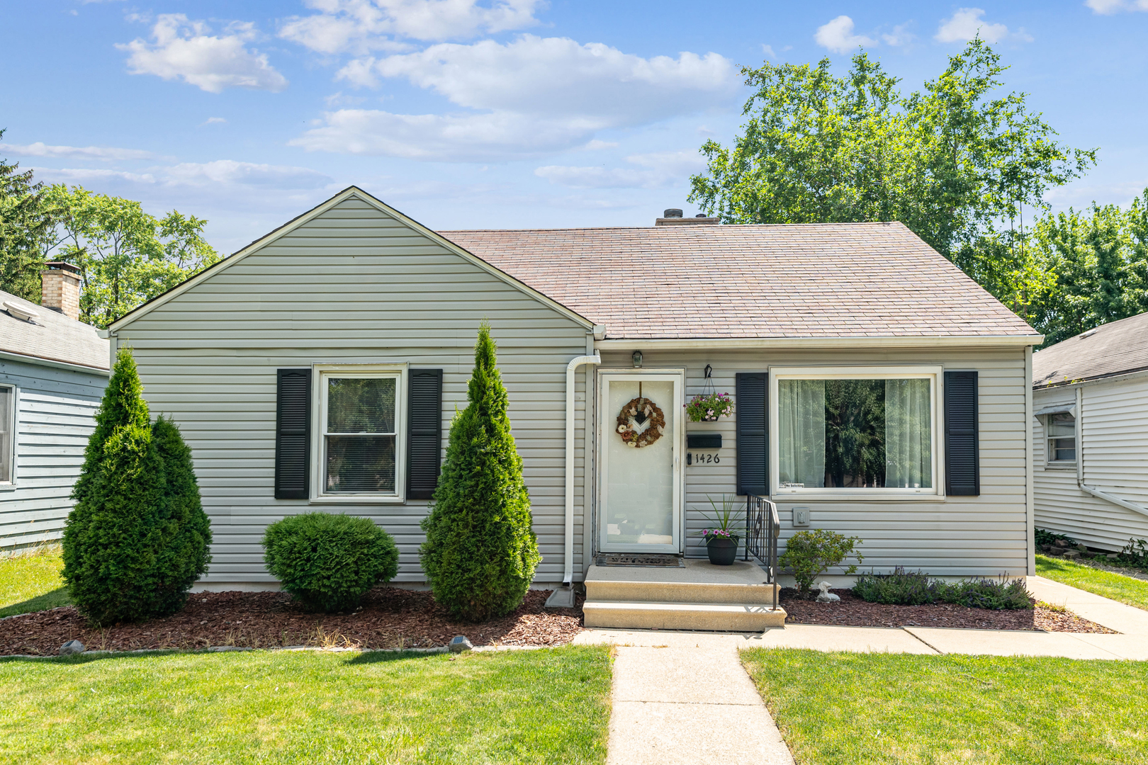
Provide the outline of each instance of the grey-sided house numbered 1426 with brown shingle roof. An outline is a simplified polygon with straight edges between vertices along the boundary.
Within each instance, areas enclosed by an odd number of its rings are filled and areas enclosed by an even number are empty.
[[[1031,572],[1039,335],[900,224],[657,223],[435,233],[351,187],[116,321],[194,451],[202,586],[274,587],[264,529],[310,510],[374,518],[396,581],[424,581],[483,319],[540,585],[599,552],[704,556],[690,534],[722,494],[775,500],[783,544],[861,537],[866,569]],[[737,414],[685,422],[707,368]],[[638,397],[665,420],[642,448],[618,432]]]

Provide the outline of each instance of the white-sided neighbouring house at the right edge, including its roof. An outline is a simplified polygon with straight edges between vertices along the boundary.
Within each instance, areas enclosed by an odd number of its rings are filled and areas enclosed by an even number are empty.
[[[1119,551],[1148,539],[1148,313],[1032,357],[1037,528]]]

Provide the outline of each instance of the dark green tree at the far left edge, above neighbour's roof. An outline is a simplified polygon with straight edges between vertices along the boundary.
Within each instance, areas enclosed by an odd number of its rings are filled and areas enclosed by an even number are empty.
[[[3,134],[0,130],[0,140]],[[32,171],[0,159],[0,290],[40,302],[41,244],[52,234],[53,212]]]

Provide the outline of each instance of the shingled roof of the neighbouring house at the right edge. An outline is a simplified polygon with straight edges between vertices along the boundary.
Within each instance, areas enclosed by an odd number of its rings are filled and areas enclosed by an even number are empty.
[[[1148,313],[1101,325],[1032,354],[1032,387],[1148,369]]]

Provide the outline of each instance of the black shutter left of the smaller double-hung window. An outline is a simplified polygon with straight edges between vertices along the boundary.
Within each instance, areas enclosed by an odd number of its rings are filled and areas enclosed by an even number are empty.
[[[311,491],[311,370],[279,369],[276,388],[276,499]]]

